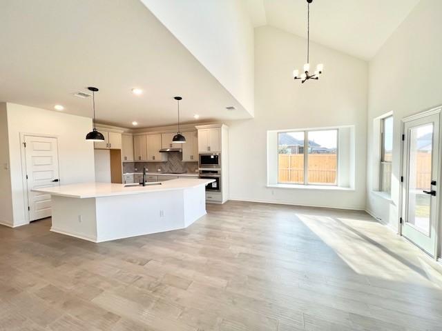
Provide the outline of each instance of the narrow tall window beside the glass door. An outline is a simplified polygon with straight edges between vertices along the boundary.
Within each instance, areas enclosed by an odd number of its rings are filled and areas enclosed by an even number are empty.
[[[379,188],[390,194],[392,189],[393,117],[381,120],[381,169]]]

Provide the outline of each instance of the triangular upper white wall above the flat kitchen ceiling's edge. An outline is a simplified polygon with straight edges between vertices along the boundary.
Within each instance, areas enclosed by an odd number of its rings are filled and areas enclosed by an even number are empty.
[[[242,1],[142,3],[253,115],[253,27]]]

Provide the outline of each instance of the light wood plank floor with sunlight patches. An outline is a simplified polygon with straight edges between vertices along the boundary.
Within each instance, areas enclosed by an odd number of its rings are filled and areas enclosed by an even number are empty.
[[[0,227],[0,330],[442,330],[440,266],[364,212],[208,212],[99,244]]]

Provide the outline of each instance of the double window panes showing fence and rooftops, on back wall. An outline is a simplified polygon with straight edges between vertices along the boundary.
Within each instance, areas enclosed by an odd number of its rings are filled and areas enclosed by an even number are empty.
[[[337,185],[338,129],[278,132],[278,183]]]

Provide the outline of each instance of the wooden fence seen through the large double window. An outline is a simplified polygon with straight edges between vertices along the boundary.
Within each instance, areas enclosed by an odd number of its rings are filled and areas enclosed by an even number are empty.
[[[278,154],[278,181],[304,183],[304,154]],[[336,154],[309,154],[309,183],[336,183]]]

